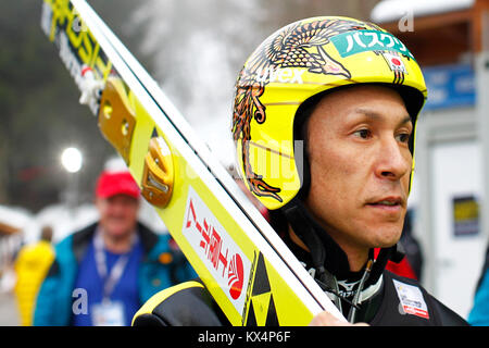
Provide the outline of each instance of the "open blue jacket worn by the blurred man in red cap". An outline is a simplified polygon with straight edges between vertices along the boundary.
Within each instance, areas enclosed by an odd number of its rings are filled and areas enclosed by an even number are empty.
[[[64,238],[55,246],[55,259],[39,290],[34,313],[36,326],[66,326],[72,323],[78,265],[93,237],[92,224]],[[170,248],[168,235],[156,235],[138,223],[143,258],[139,266],[139,299],[145,303],[155,293],[196,276],[190,264]],[[160,258],[168,252],[172,258]],[[161,260],[173,260],[163,264]]]

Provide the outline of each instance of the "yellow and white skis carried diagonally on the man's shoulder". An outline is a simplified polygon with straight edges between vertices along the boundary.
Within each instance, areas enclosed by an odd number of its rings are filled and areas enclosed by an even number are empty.
[[[344,320],[156,82],[85,0],[43,0],[41,27],[80,102],[233,325]]]

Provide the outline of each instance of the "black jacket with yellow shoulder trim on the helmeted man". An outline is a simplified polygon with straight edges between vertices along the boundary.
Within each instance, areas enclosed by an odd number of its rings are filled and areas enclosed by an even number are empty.
[[[396,287],[397,286],[397,287]],[[402,298],[402,301],[401,301]],[[368,303],[373,326],[459,326],[467,323],[429,295],[417,282],[383,273],[383,286]],[[366,316],[361,318],[366,319]],[[136,314],[135,326],[230,325],[199,279],[156,294]]]

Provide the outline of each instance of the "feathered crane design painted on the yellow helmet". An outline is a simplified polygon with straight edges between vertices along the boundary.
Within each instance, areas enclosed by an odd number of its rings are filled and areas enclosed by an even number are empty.
[[[260,97],[271,83],[272,72],[278,67],[304,67],[310,73],[342,75],[350,79],[348,69],[334,60],[322,46],[328,44],[333,36],[365,28],[359,22],[342,18],[294,23],[265,40],[241,70],[236,83],[233,137],[235,141],[241,140],[244,179],[256,196],[281,201],[277,195],[280,188],[265,183],[262,175],[253,172],[249,162],[250,122],[252,117],[259,124],[266,120],[265,105]],[[315,48],[317,53],[311,52],[311,48]]]

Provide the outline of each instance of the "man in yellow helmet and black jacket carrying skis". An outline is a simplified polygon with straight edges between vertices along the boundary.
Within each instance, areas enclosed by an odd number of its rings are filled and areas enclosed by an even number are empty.
[[[417,282],[385,271],[399,260],[426,96],[401,41],[347,17],[277,30],[236,83],[231,130],[244,183],[351,323],[466,325]],[[284,162],[279,175],[266,175],[263,163]],[[200,282],[188,282],[155,295],[133,324],[229,322]],[[311,324],[338,322],[324,312]]]

